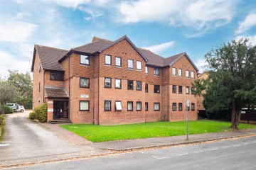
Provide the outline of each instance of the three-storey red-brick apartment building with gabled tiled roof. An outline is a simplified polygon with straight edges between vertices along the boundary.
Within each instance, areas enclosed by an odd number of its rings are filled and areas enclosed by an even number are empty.
[[[35,45],[33,108],[48,104],[48,122],[118,125],[197,119],[191,82],[198,69],[186,52],[161,57],[126,35],[94,37],[71,50]]]

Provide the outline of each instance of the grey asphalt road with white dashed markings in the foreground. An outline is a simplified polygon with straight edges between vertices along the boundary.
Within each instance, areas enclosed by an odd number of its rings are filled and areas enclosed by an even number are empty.
[[[256,137],[150,149],[17,169],[256,169]]]

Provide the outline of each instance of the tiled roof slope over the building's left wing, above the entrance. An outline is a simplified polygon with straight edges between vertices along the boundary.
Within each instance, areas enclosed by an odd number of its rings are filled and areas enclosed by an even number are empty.
[[[40,58],[43,69],[63,71],[63,67],[58,62],[61,57],[68,53],[68,50],[62,50],[53,47],[46,47],[43,45],[35,45],[36,52]]]

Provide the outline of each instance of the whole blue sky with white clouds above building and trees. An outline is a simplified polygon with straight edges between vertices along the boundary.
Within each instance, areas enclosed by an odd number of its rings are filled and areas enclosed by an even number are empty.
[[[29,72],[34,44],[70,50],[123,35],[163,57],[186,52],[202,72],[206,52],[223,42],[256,45],[256,1],[0,0],[0,74]]]

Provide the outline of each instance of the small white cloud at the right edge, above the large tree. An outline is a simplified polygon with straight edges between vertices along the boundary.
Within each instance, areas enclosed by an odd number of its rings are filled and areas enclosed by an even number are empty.
[[[246,30],[249,30],[253,26],[256,26],[256,12],[247,15],[245,21],[239,23],[238,30],[236,30],[235,33],[244,33]]]

